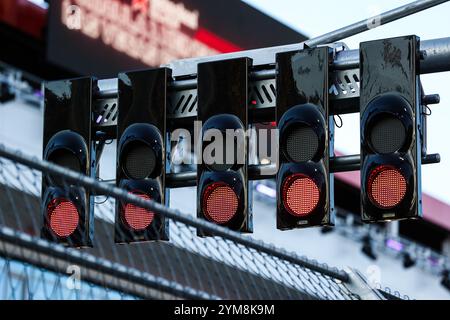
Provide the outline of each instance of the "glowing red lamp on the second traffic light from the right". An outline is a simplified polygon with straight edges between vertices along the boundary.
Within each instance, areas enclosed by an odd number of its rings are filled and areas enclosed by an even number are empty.
[[[293,174],[283,184],[283,204],[296,217],[311,214],[319,204],[320,190],[313,179],[304,174]]]

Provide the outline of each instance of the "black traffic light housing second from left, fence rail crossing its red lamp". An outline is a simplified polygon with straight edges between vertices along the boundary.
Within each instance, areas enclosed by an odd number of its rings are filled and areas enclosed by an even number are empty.
[[[167,205],[166,105],[171,70],[120,73],[116,184],[143,199]],[[115,242],[168,240],[168,220],[123,201],[116,202]]]

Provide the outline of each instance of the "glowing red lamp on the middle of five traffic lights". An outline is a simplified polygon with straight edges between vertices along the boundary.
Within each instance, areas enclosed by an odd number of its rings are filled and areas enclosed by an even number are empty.
[[[229,222],[235,216],[238,206],[236,193],[226,183],[213,183],[203,193],[203,211],[206,218],[214,223]]]

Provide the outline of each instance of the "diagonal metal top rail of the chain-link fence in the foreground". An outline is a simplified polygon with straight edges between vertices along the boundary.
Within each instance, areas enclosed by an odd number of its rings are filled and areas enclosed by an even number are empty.
[[[247,248],[252,248],[262,253],[266,253],[268,255],[296,264],[300,267],[320,272],[325,276],[338,279],[344,283],[347,283],[349,280],[348,274],[343,270],[329,268],[307,258],[299,257],[293,252],[287,252],[283,249],[276,248],[273,245],[249,238],[238,232],[216,225],[207,220],[198,219],[192,215],[183,214],[179,210],[168,208],[152,200],[145,200],[134,194],[128,193],[126,190],[118,188],[115,185],[105,182],[99,182],[96,179],[82,175],[79,172],[68,170],[48,161],[40,160],[37,157],[24,155],[21,152],[10,149],[9,147],[6,147],[2,144],[0,144],[0,157],[9,159],[43,173],[60,176],[67,180],[67,182],[75,183],[76,185],[89,188],[90,190],[93,190],[99,194],[111,196],[126,203],[134,204],[138,207],[148,209],[169,219],[178,221],[194,228],[202,229],[215,236],[228,239],[234,243],[243,245]]]

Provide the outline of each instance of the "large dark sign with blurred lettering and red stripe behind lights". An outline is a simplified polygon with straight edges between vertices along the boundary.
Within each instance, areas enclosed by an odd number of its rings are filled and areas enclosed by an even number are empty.
[[[49,1],[47,57],[83,75],[304,39],[241,0]]]

